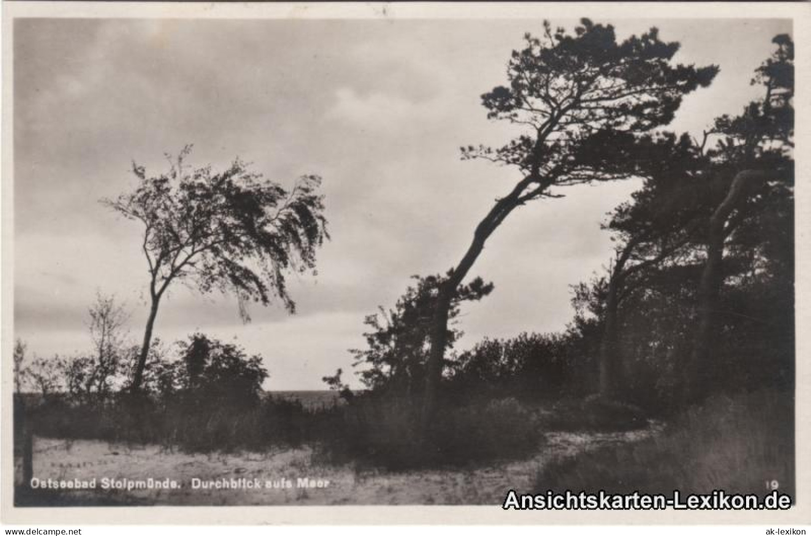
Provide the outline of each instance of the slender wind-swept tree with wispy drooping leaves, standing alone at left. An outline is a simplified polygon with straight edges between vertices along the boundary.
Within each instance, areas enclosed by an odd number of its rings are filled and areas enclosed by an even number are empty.
[[[315,253],[328,237],[320,178],[307,175],[287,191],[236,159],[230,168],[189,169],[184,159],[191,145],[169,171],[148,176],[133,163],[139,180],[134,191],[102,199],[109,208],[144,224],[141,244],[149,268],[150,309],[144,342],[131,389],[140,388],[158,306],[173,281],[200,292],[219,289],[235,294],[243,319],[249,301],[268,305],[279,298],[295,311],[287,293],[285,272],[315,271]],[[167,156],[168,157],[168,156]]]

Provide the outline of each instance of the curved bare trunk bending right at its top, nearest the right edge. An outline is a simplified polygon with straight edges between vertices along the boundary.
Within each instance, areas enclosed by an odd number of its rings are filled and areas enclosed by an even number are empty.
[[[693,351],[687,367],[684,368],[684,395],[687,401],[702,397],[707,389],[707,362],[712,350],[712,336],[715,328],[714,311],[718,307],[718,297],[723,285],[723,244],[730,229],[726,229],[727,219],[743,195],[745,188],[754,178],[764,178],[762,171],[746,170],[736,174],[727,196],[710,216],[707,234],[707,258],[698,286],[698,325]]]

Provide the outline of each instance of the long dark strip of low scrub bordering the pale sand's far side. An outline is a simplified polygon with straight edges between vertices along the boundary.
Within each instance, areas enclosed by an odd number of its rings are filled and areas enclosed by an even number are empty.
[[[126,394],[104,404],[49,401],[27,418],[37,435],[62,439],[152,443],[187,452],[311,443],[325,461],[391,470],[526,456],[542,437],[534,412],[514,398],[445,401],[427,434],[421,433],[421,410],[421,401],[411,397],[358,396],[320,409],[265,397],[237,408],[178,392],[161,401]]]

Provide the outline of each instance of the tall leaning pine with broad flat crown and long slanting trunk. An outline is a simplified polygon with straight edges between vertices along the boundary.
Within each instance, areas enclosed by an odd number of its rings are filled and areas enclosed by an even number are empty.
[[[710,84],[717,66],[677,65],[676,42],[659,40],[651,28],[642,36],[616,41],[611,25],[582,19],[574,35],[544,23],[542,38],[526,35],[513,51],[508,86],[482,96],[487,117],[525,129],[501,148],[468,147],[463,158],[513,165],[521,179],[477,225],[473,241],[441,286],[431,329],[423,425],[436,410],[448,329],[448,308],[481,254],[487,238],[515,208],[555,197],[553,187],[607,181],[637,174],[637,139],[670,122],[684,95]]]

